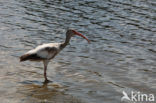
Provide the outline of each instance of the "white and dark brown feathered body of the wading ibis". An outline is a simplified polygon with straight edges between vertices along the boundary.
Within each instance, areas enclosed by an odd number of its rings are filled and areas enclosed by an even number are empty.
[[[20,61],[43,61],[54,58],[63,48],[62,43],[48,43],[37,46],[20,57]]]

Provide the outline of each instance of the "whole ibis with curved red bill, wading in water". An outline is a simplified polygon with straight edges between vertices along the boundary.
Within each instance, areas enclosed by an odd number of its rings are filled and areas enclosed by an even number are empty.
[[[28,52],[26,52],[24,55],[20,57],[20,61],[43,61],[44,64],[44,78],[45,82],[49,82],[47,79],[47,65],[51,59],[53,59],[63,48],[67,46],[72,36],[78,35],[83,37],[90,42],[85,36],[83,36],[81,33],[69,29],[66,32],[66,40],[63,43],[48,43],[37,46],[35,49],[32,49]]]

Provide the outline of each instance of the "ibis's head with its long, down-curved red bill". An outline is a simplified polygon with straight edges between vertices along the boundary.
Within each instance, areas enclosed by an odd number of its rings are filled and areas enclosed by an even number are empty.
[[[88,40],[84,35],[82,35],[81,33],[77,32],[77,31],[75,31],[73,29],[68,29],[67,32],[66,32],[67,37],[72,37],[72,36],[75,36],[75,35],[83,37],[84,39],[86,39],[88,41],[88,43],[90,43],[90,40]]]

